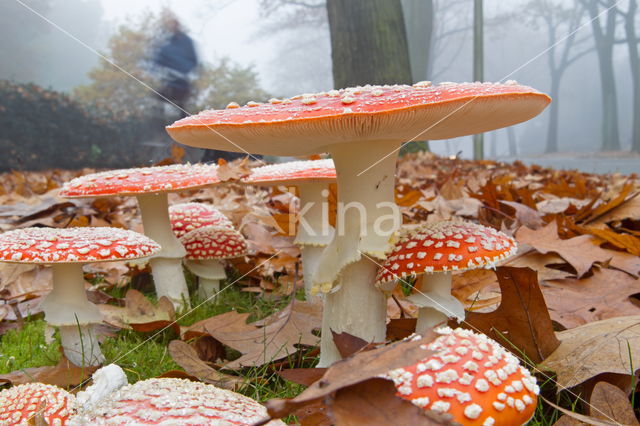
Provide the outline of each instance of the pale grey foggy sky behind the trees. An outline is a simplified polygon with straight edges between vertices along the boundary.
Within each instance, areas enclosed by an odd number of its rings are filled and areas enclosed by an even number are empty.
[[[73,37],[27,10],[22,1]],[[273,1],[271,6],[269,1]],[[177,14],[196,41],[203,59],[215,61],[228,57],[235,63],[253,66],[259,84],[270,94],[291,96],[332,88],[326,14],[317,9],[300,12],[298,6],[287,3],[280,0],[3,0],[0,79],[34,82],[70,92],[75,86],[88,83],[87,73],[98,63],[96,52],[104,52],[118,25],[131,22],[149,10],[167,7]],[[567,6],[573,3],[564,2]],[[624,9],[625,1],[620,3]],[[415,80],[472,80],[472,4],[470,0],[435,1],[436,29],[430,75]],[[550,48],[548,29],[543,22],[532,18],[530,4],[530,1],[485,1],[485,79],[514,79],[548,92],[551,86],[546,53]],[[581,25],[575,37],[580,40],[581,49],[589,49],[593,35],[587,14]],[[557,30],[560,49],[566,43],[562,38],[568,34],[564,26],[558,26]],[[624,38],[622,24],[618,25],[617,38]],[[625,43],[616,44],[613,52],[620,144],[621,150],[626,151],[631,148],[633,118],[629,53]],[[598,57],[592,49],[572,63],[562,77],[555,99],[559,105],[559,151],[600,150],[601,90]],[[544,152],[549,115],[547,110],[540,117],[515,127],[518,155]],[[471,155],[469,138],[434,141],[431,147],[440,154],[462,151],[465,156]],[[486,135],[486,156],[512,154],[506,130]]]

